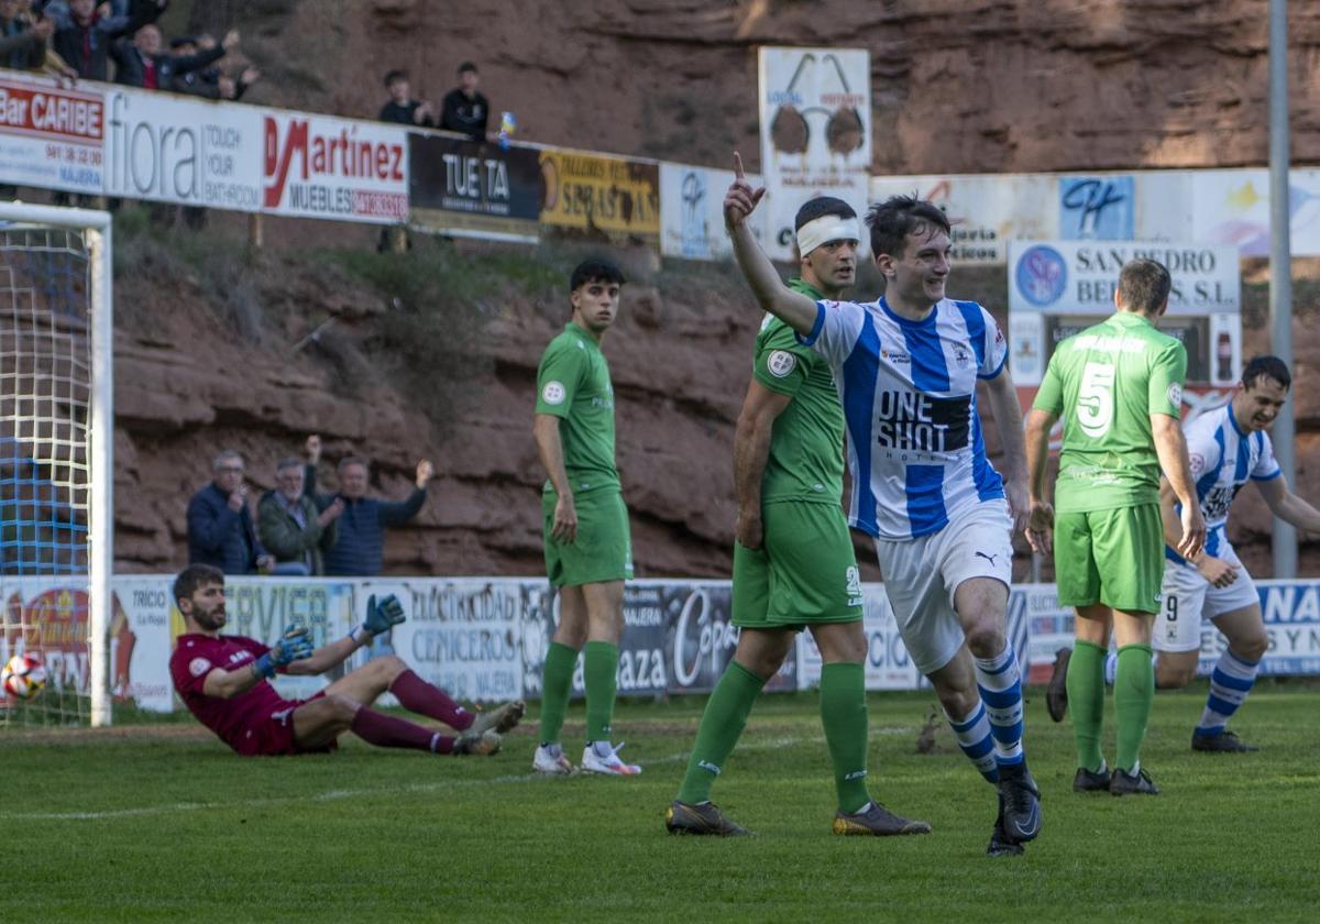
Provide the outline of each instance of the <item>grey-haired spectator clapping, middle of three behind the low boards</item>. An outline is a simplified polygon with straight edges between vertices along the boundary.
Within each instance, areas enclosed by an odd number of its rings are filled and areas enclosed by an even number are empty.
[[[302,486],[302,462],[284,459],[275,469],[275,490],[256,506],[257,539],[275,556],[275,574],[325,574],[323,553],[339,537],[335,520],[343,513],[343,502],[335,498],[318,515]]]

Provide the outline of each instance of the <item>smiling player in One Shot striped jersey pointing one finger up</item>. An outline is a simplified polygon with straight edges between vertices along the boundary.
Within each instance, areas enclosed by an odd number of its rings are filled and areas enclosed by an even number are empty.
[[[849,523],[875,540],[884,590],[958,743],[998,785],[991,855],[1040,832],[1040,792],[1022,748],[1022,678],[1005,632],[1011,529],[1027,512],[1022,411],[994,318],[945,297],[949,219],[894,197],[866,215],[884,297],[820,300],[780,282],[747,215],[764,195],[734,156],[725,197],[734,255],[756,301],[834,372],[853,480]],[[1005,445],[1007,483],[986,458],[977,381]],[[1007,500],[1010,503],[1006,504]]]

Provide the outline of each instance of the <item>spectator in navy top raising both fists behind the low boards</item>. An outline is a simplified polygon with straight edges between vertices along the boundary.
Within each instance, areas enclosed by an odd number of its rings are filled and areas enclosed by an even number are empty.
[[[370,466],[366,459],[348,457],[339,461],[339,494],[318,495],[315,477],[321,461],[321,438],[308,437],[306,492],[315,499],[317,510],[327,510],[335,499],[343,500],[339,516],[339,540],[326,553],[326,574],[333,577],[374,577],[380,574],[384,557],[385,527],[397,527],[417,515],[426,502],[426,482],[436,473],[429,461],[417,463],[417,480],[407,500],[385,502],[366,496]]]

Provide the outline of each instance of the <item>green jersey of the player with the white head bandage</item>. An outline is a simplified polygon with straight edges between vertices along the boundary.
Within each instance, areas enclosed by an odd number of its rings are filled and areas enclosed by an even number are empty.
[[[825,297],[800,279],[789,280],[788,288],[817,301]],[[767,314],[756,335],[752,375],[770,391],[793,399],[771,430],[762,503],[838,506],[843,496],[843,408],[829,362],[799,343],[792,327]]]

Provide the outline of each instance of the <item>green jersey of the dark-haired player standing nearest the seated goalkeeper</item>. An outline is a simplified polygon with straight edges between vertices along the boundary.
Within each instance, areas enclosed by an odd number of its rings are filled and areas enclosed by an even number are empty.
[[[564,470],[574,494],[619,487],[614,467],[614,385],[601,345],[572,321],[536,370],[536,413],[560,418]],[[546,480],[545,491],[554,492]]]

